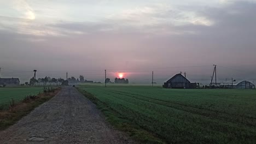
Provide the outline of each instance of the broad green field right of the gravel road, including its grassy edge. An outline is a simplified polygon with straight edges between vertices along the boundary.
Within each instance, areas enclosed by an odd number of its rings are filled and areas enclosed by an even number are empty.
[[[79,86],[110,123],[132,125],[158,137],[147,143],[255,143],[254,89],[164,89],[149,86]],[[92,94],[92,95],[91,95]],[[130,126],[129,126],[130,127]],[[127,130],[124,128],[123,130]],[[136,130],[135,130],[136,131]]]

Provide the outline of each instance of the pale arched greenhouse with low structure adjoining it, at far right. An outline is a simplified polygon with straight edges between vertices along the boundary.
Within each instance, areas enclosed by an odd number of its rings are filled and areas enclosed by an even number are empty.
[[[220,83],[220,87],[223,88],[243,88],[243,89],[252,89],[255,88],[254,84],[249,81],[226,81]]]

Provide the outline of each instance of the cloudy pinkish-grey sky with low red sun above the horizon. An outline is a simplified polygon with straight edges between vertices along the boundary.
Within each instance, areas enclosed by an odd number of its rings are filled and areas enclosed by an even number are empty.
[[[216,64],[256,81],[255,14],[255,0],[0,0],[0,76],[208,81]]]

